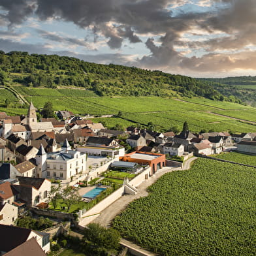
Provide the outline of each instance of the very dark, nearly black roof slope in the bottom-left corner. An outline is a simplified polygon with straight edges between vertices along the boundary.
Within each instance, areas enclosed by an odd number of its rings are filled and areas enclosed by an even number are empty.
[[[31,229],[0,224],[0,251],[10,251],[27,241]]]

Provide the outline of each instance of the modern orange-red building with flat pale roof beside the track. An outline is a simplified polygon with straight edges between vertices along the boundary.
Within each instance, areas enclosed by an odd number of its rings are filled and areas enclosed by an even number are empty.
[[[150,175],[153,175],[160,168],[165,167],[165,155],[161,153],[132,152],[119,157],[119,161],[138,163],[138,165],[150,166]]]

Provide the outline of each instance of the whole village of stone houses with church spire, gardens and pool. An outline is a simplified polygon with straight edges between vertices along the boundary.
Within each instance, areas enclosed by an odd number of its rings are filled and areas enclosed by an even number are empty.
[[[178,134],[136,125],[118,131],[67,110],[56,116],[37,120],[32,102],[26,116],[0,112],[0,255],[27,248],[46,255],[56,234],[85,227],[123,195],[139,194],[140,184],[183,168],[191,157],[256,154],[256,132],[193,133],[185,120]],[[55,225],[18,227],[25,216],[49,217]]]

